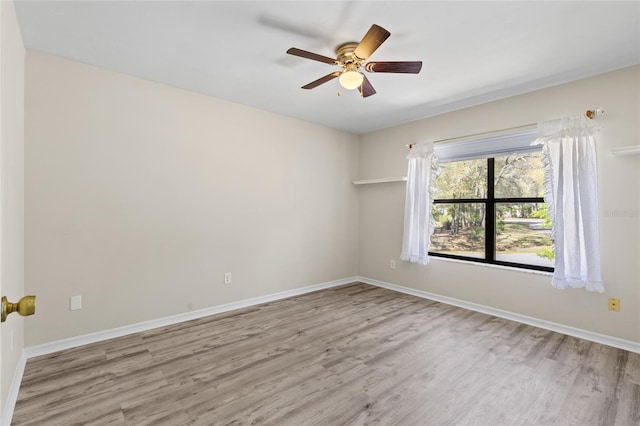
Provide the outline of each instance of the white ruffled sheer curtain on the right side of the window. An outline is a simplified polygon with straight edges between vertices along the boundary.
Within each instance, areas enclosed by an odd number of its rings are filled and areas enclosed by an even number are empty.
[[[552,285],[603,292],[598,236],[594,129],[584,116],[538,124],[545,163],[544,199],[555,243]]]

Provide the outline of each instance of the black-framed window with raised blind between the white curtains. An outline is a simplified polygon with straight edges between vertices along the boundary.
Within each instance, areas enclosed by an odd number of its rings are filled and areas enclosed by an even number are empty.
[[[553,271],[535,132],[438,147],[429,255]],[[480,158],[474,158],[480,157]]]

